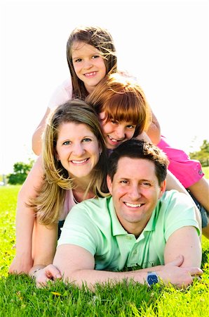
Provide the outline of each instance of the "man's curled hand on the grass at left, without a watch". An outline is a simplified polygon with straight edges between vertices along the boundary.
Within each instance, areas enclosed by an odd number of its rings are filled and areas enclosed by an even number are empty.
[[[60,280],[62,275],[58,268],[53,266],[53,264],[49,264],[45,268],[41,268],[39,271],[34,273],[34,278],[36,280],[36,287],[46,286],[48,281]]]

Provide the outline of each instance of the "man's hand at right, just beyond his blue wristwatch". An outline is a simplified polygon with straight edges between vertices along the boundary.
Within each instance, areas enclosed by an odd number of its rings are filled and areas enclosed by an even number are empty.
[[[182,255],[178,256],[174,261],[167,263],[160,271],[157,271],[159,278],[165,283],[171,283],[179,288],[190,285],[194,278],[198,278],[203,274],[203,271],[197,267],[180,267],[184,261]]]

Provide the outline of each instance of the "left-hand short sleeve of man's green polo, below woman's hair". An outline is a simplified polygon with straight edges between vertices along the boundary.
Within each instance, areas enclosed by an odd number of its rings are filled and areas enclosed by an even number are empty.
[[[67,215],[58,240],[58,246],[61,244],[75,244],[95,255],[100,246],[100,230],[91,219],[86,204],[77,204]]]

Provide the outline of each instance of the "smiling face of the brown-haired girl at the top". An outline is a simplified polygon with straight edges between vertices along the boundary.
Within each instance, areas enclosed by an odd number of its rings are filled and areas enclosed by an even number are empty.
[[[74,42],[72,45],[72,63],[76,75],[82,80],[88,93],[93,92],[107,72],[100,51],[84,42]]]

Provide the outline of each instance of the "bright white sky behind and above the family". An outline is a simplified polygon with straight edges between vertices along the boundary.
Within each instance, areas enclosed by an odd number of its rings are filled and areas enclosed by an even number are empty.
[[[188,152],[209,139],[207,0],[0,1],[0,174],[34,157],[32,133],[69,75],[78,25],[109,30],[119,68],[137,77],[171,143]]]

